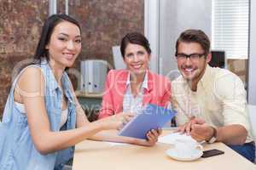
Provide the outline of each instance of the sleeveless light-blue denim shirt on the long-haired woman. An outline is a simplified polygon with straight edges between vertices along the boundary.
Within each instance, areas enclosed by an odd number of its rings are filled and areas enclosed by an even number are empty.
[[[61,82],[64,95],[67,97],[68,115],[67,122],[60,129],[61,88],[58,87],[54,74],[46,60],[42,61],[41,65],[29,66],[40,68],[44,75],[44,101],[51,131],[57,132],[75,128],[75,103],[71,91],[71,82],[67,73],[63,73]],[[25,69],[23,69],[23,71],[24,70]],[[0,170],[61,169],[63,164],[73,157],[73,147],[66,150],[55,151],[47,155],[42,155],[38,152],[32,142],[26,114],[21,113],[15,107],[14,90],[19,77],[20,75],[15,78],[15,81],[12,84],[3,112],[3,120],[0,122]],[[35,111],[35,114],[38,114],[37,111]]]

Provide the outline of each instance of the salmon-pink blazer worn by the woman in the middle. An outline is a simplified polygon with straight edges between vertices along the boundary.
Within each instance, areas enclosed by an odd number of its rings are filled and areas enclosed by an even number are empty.
[[[123,99],[126,91],[128,70],[111,70],[105,82],[102,108],[99,118],[118,114],[123,111]],[[148,89],[143,92],[143,105],[166,106],[170,103],[171,82],[160,75],[148,71]]]

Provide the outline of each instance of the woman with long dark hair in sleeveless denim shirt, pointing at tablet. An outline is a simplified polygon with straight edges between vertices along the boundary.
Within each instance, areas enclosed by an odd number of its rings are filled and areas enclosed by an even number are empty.
[[[119,129],[131,115],[88,122],[65,69],[81,51],[79,23],[54,14],[44,23],[34,62],[12,84],[0,123],[0,169],[61,169],[84,139],[154,145],[148,141],[99,133]]]

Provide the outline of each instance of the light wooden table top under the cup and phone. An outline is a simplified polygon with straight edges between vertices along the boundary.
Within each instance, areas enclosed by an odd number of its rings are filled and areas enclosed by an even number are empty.
[[[169,131],[170,132],[170,131]],[[164,132],[168,133],[168,132]],[[110,145],[104,142],[84,140],[76,145],[73,159],[73,170],[253,170],[256,166],[236,154],[225,144],[204,145],[204,150],[224,150],[224,155],[200,158],[196,161],[175,161],[166,156],[169,144],[157,143],[154,147],[143,147],[132,144]]]

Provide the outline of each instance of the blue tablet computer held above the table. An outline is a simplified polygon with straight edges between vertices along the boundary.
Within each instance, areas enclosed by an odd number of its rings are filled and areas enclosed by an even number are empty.
[[[146,134],[149,130],[163,127],[176,113],[176,111],[158,105],[148,104],[143,109],[142,113],[134,116],[131,121],[119,131],[119,135],[137,139],[147,139]]]

